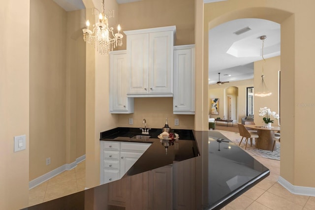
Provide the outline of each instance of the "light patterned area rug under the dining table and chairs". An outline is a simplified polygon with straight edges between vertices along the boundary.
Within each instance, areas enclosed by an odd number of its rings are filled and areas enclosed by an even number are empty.
[[[231,140],[237,146],[240,144],[242,137],[240,136],[240,134],[238,132],[230,132],[230,131],[223,131],[223,130],[217,130],[217,129],[216,129],[216,131],[222,133],[224,136],[226,136],[229,140]],[[244,138],[239,147],[253,156],[259,156],[259,157],[264,157],[264,158],[268,158],[268,159],[280,160],[280,143],[276,142],[276,146],[277,146],[277,149],[275,149],[273,152],[269,151],[269,150],[258,150],[255,147],[255,141],[253,140],[252,146],[251,146],[250,142],[248,142],[247,149],[245,150],[245,138]]]

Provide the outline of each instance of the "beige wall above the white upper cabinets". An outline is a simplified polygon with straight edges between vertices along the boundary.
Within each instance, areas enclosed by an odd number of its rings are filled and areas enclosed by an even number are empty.
[[[120,4],[119,23],[123,31],[176,26],[175,45],[195,43],[193,0],[142,0]]]

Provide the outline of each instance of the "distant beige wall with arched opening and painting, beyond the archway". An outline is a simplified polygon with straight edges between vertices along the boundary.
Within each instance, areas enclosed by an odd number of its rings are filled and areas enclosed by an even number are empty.
[[[234,95],[233,98],[236,98],[236,101],[233,99],[233,105],[237,107],[237,110],[234,110],[234,112],[237,113],[237,116],[234,116],[235,119],[233,120],[238,120],[238,122],[241,122],[242,118],[246,116],[246,88],[253,86],[253,79],[229,82],[221,86],[209,85],[208,101],[210,117],[223,119],[223,115],[225,115],[225,118],[227,118],[226,96]],[[231,92],[228,92],[229,88],[232,88]],[[238,89],[237,94],[235,89]],[[219,115],[211,115],[211,98],[219,98]]]

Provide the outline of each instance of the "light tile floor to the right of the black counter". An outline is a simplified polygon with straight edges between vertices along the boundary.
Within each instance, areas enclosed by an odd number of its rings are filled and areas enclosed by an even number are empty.
[[[229,139],[239,133],[220,131]],[[278,183],[280,161],[252,156],[270,170],[270,175],[229,203],[222,210],[315,210],[315,197],[295,195]]]

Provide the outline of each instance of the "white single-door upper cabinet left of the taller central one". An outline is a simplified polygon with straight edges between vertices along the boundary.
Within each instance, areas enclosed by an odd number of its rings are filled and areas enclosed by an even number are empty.
[[[126,51],[110,52],[110,113],[133,113],[133,98],[127,97]]]

